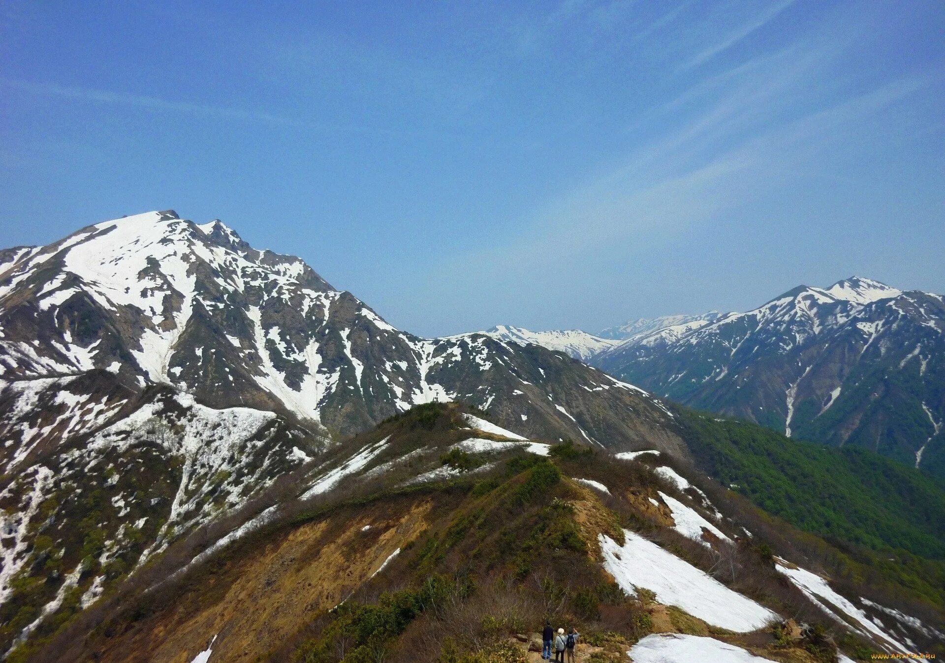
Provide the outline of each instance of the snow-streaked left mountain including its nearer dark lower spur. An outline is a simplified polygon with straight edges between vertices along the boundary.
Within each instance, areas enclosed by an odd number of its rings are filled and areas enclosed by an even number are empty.
[[[333,440],[436,400],[529,437],[685,454],[642,390],[533,344],[404,333],[219,221],[152,212],[0,252],[0,611],[49,559],[68,578],[43,614],[91,602],[304,480]]]

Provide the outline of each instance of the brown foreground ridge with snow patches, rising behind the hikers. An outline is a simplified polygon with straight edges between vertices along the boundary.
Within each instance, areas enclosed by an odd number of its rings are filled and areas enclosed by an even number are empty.
[[[310,477],[13,658],[525,661],[545,618],[582,634],[582,661],[940,651],[930,603],[656,450],[524,440],[429,404]]]

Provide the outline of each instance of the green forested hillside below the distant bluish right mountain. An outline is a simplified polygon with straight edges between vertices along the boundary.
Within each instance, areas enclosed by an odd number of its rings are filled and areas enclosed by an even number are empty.
[[[797,442],[765,427],[679,409],[696,461],[770,514],[871,550],[945,560],[945,489],[862,447]]]

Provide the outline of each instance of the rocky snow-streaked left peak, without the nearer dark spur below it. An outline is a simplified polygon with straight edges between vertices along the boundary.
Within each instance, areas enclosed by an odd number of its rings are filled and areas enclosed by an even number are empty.
[[[279,411],[333,434],[432,400],[461,399],[548,438],[624,427],[623,416],[585,420],[587,393],[626,393],[614,405],[643,399],[665,417],[643,393],[533,346],[401,332],[299,258],[256,251],[219,221],[148,213],[2,259],[4,380],[99,369],[132,391],[169,384],[211,407]]]

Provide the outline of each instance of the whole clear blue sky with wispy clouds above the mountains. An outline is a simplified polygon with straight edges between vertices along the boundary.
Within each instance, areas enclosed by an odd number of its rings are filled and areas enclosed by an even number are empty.
[[[222,218],[423,335],[945,292],[940,0],[252,5],[0,1],[0,244]]]

